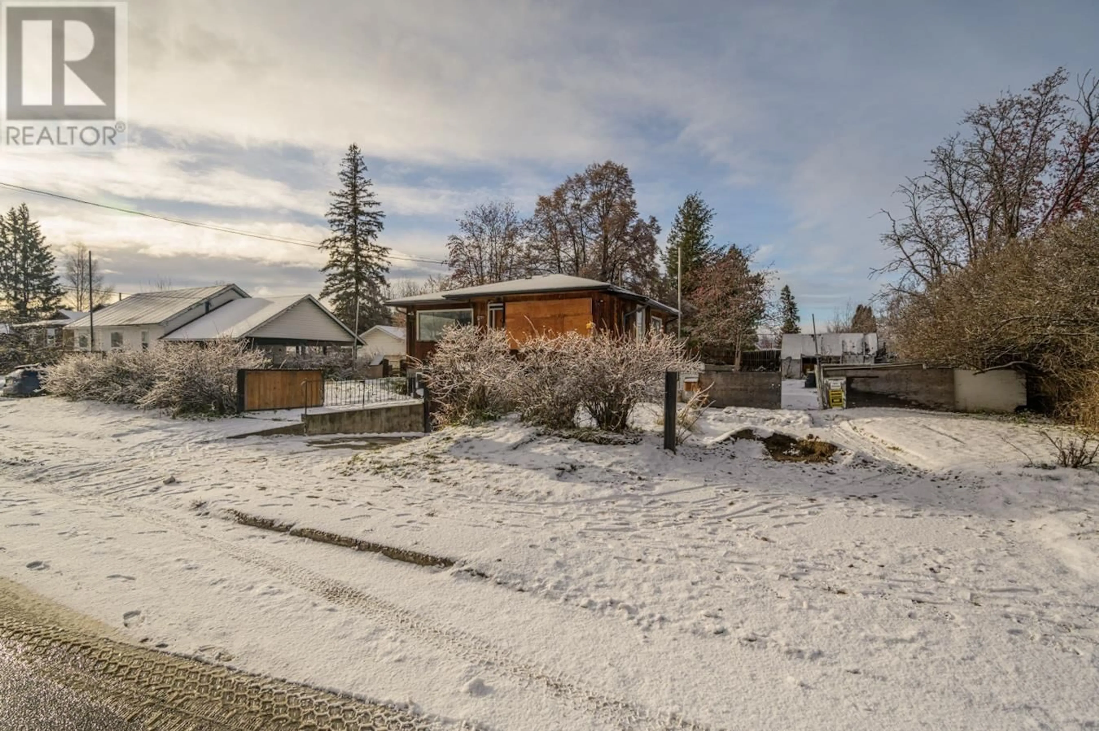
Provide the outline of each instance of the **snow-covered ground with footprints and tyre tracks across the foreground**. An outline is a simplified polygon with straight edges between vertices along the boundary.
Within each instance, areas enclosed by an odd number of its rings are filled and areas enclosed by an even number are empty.
[[[257,423],[0,400],[0,575],[444,726],[1099,728],[1099,475],[1028,466],[1039,427],[726,409],[675,456],[511,420],[224,439]],[[746,427],[842,451],[777,463]]]

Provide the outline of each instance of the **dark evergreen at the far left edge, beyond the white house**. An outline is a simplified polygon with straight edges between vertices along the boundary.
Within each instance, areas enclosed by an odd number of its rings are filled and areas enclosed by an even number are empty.
[[[0,217],[0,308],[14,322],[54,313],[63,296],[54,254],[26,203]]]

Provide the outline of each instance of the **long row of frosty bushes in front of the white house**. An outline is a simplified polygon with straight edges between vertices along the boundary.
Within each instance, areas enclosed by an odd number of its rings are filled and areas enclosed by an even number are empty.
[[[233,341],[75,354],[49,368],[45,388],[71,400],[220,416],[236,410],[236,370],[265,365],[263,353]]]

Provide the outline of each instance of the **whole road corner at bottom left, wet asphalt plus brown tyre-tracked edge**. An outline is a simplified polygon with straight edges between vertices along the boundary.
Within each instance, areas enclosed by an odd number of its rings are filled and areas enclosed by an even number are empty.
[[[407,710],[120,641],[0,578],[0,731],[430,731]]]

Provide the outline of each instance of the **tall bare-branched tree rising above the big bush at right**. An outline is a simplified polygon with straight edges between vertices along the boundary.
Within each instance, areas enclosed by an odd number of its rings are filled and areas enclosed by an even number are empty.
[[[1073,97],[1058,68],[1024,93],[1003,95],[963,119],[965,134],[932,152],[930,169],[898,193],[903,213],[886,212],[882,243],[898,274],[890,289],[918,291],[1017,239],[1095,210],[1099,202],[1099,78],[1090,71]]]

